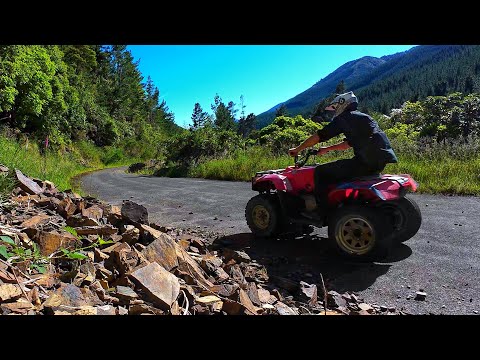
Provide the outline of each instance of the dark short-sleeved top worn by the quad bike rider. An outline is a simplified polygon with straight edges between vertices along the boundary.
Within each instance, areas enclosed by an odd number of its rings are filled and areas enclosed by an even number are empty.
[[[373,169],[398,162],[387,135],[375,120],[360,111],[344,111],[317,133],[320,141],[343,133],[355,157]]]

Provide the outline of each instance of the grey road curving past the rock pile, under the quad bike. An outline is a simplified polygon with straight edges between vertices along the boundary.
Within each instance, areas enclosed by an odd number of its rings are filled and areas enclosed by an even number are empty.
[[[145,205],[151,222],[223,232],[232,246],[242,247],[277,275],[320,283],[322,273],[329,289],[353,291],[369,303],[412,314],[480,312],[480,198],[409,195],[424,218],[418,234],[381,263],[354,264],[329,254],[326,229],[305,238],[252,241],[244,209],[255,193],[246,182],[157,178],[113,169],[89,174],[81,184],[112,204],[132,200]],[[419,289],[427,292],[425,301],[414,300]]]

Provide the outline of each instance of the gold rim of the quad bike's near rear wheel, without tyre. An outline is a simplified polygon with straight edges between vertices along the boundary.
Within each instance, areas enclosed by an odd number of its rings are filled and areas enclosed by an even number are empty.
[[[375,245],[375,232],[361,217],[346,217],[337,227],[337,242],[350,254],[363,255]]]

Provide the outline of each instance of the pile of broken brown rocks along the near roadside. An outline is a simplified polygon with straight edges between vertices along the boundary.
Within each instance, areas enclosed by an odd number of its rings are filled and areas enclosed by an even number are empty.
[[[382,313],[354,294],[269,276],[200,232],[149,223],[134,202],[61,192],[18,170],[16,179],[0,203],[1,314]]]

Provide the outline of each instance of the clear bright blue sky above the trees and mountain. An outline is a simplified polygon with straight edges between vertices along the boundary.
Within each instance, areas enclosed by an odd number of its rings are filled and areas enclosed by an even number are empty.
[[[344,63],[413,45],[129,45],[175,122],[188,126],[196,102],[211,113],[216,93],[256,115],[308,89]],[[320,100],[320,99],[319,99]],[[237,113],[239,115],[239,113]]]

